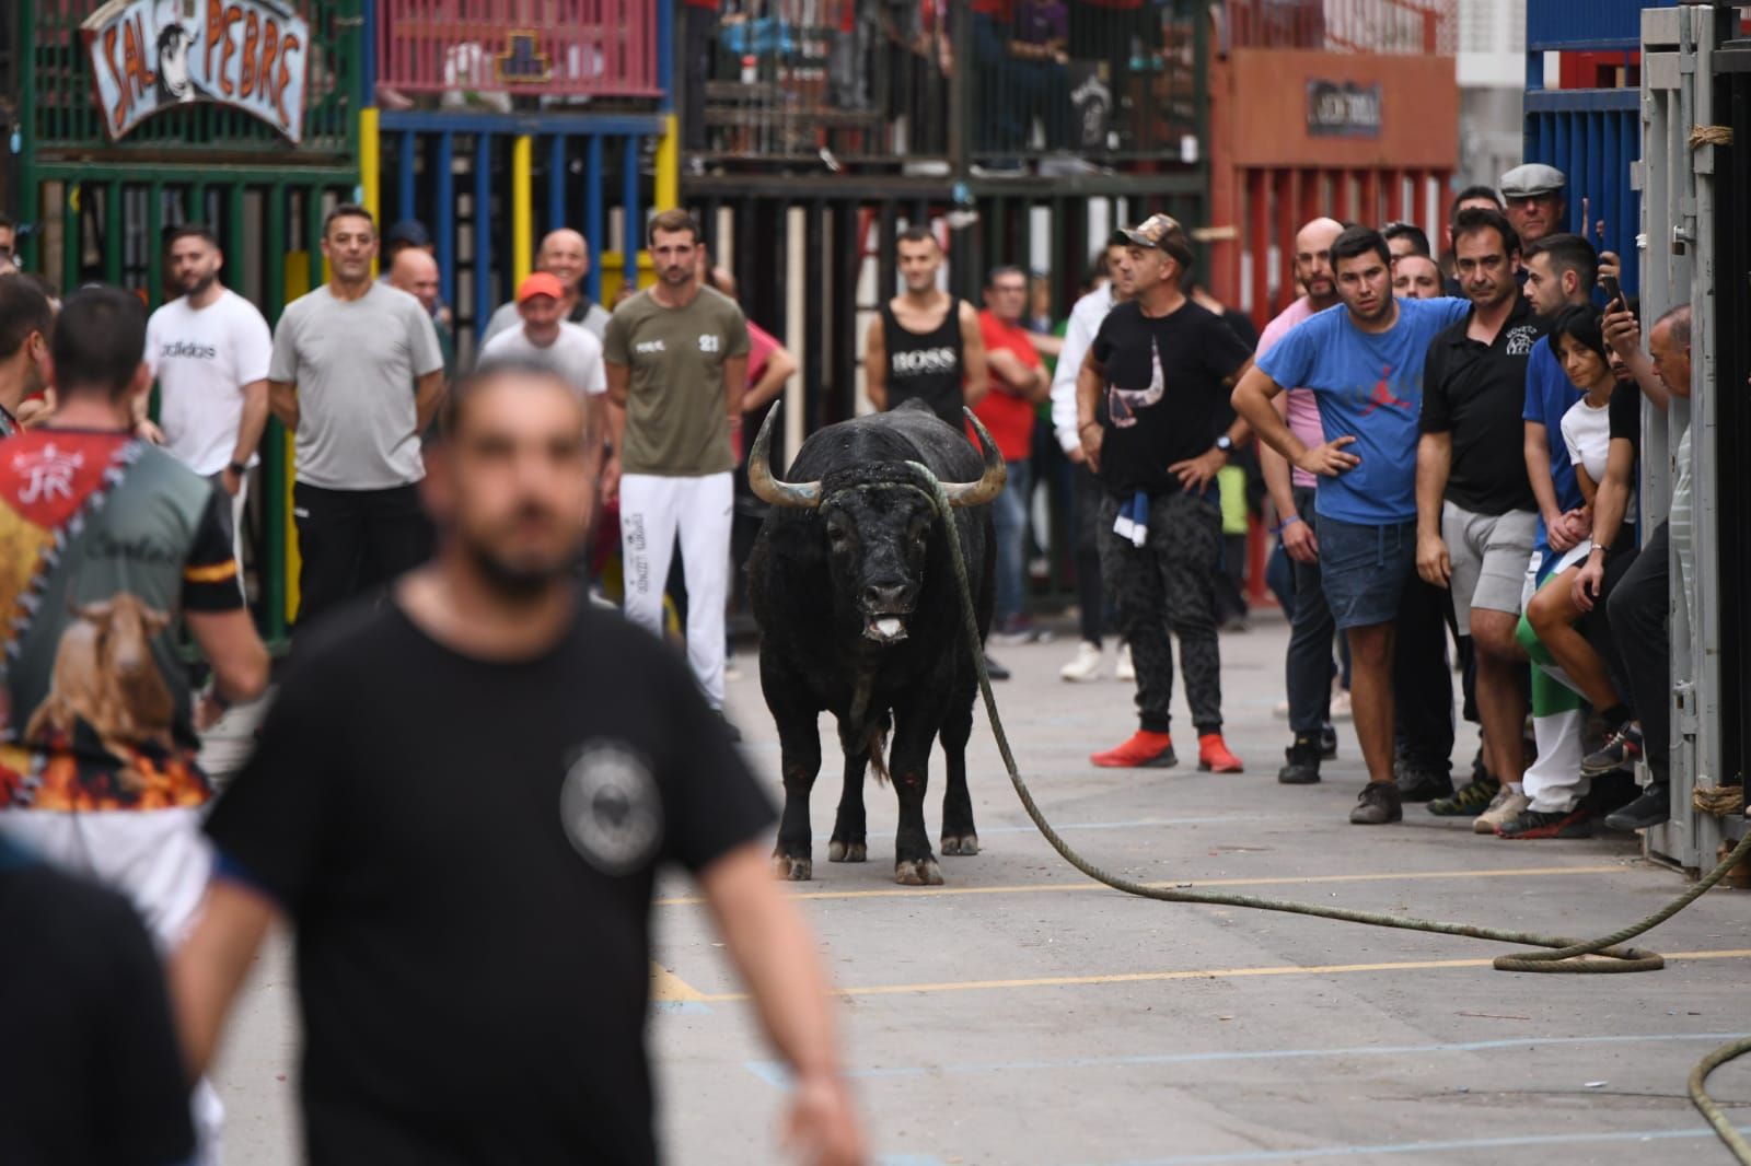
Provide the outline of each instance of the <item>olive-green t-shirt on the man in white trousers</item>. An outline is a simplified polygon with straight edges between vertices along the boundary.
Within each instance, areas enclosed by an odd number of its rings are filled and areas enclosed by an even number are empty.
[[[615,308],[602,355],[629,369],[623,473],[735,469],[723,362],[748,355],[748,320],[734,299],[702,287],[685,308],[665,308],[641,291]]]

